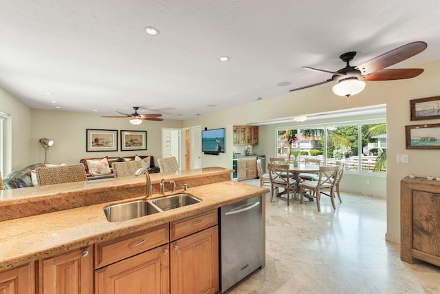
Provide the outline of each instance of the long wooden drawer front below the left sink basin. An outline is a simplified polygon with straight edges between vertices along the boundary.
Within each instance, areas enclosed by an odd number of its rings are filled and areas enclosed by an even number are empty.
[[[127,235],[126,237],[95,244],[95,268],[118,262],[137,253],[168,242],[168,223]]]

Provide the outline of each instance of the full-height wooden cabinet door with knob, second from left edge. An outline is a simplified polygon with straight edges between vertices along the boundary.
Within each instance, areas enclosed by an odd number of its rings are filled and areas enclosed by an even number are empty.
[[[40,293],[93,293],[94,260],[92,246],[41,262]]]

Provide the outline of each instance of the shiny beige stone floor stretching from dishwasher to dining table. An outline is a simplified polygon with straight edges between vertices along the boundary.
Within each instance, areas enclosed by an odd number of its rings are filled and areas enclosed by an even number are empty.
[[[248,181],[259,185],[258,180]],[[408,264],[385,241],[386,200],[316,202],[266,195],[266,266],[228,293],[440,293],[440,267]]]

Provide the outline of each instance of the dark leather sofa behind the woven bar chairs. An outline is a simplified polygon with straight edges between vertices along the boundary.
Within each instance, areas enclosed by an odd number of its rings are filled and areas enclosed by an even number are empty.
[[[140,156],[140,158],[144,159],[147,156]],[[87,165],[85,164],[85,159],[83,158],[80,160],[81,163],[83,163],[84,168],[87,173]],[[94,160],[100,160],[102,158],[87,158],[87,159],[94,159]],[[111,164],[113,162],[123,162],[123,161],[130,161],[134,160],[135,156],[124,156],[124,157],[107,157],[107,161],[109,162],[109,165],[111,167]],[[9,174],[7,174],[3,178],[3,185],[5,186],[5,189],[17,189],[17,188],[25,188],[25,187],[32,187],[32,172],[37,167],[45,167],[46,165],[44,163],[36,163],[34,165],[28,165],[27,167],[24,167],[23,169],[19,169],[17,171],[11,171]],[[154,157],[150,156],[150,167],[147,168],[149,173],[158,173],[160,172],[159,167],[156,167],[154,165]],[[98,180],[100,178],[113,178],[113,173],[106,174],[102,176],[92,176],[91,174],[87,173],[87,180]]]

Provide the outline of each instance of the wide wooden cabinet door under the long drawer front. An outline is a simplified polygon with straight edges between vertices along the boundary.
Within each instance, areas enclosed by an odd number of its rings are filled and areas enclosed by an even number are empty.
[[[96,270],[96,293],[170,293],[168,248],[162,245]]]

